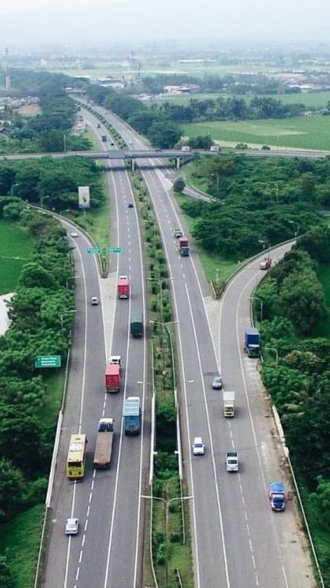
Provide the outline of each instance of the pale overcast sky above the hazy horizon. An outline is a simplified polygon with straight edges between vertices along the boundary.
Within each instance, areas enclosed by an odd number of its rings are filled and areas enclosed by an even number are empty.
[[[329,0],[3,0],[0,50],[197,38],[329,42],[329,23]]]

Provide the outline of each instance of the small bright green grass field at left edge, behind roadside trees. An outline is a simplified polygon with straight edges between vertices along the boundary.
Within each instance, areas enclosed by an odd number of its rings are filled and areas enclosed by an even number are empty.
[[[13,292],[21,268],[33,247],[33,238],[18,223],[0,220],[0,294]]]

